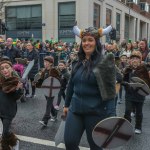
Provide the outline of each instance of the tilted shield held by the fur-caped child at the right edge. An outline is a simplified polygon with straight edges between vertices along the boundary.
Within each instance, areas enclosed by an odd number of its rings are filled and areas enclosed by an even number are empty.
[[[133,88],[137,88],[137,92],[142,96],[147,96],[150,94],[150,88],[146,84],[144,80],[138,77],[132,77],[131,82],[137,84],[137,87],[134,84],[131,84],[130,86]]]

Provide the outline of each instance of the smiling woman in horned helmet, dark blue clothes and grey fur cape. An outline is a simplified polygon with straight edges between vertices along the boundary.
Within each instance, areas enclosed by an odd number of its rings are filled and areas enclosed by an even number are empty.
[[[64,141],[66,150],[78,150],[84,130],[91,150],[101,150],[92,139],[94,126],[115,112],[115,61],[114,55],[102,56],[99,38],[112,30],[90,27],[73,31],[81,38],[79,60],[73,63],[68,83],[64,115],[66,118]]]

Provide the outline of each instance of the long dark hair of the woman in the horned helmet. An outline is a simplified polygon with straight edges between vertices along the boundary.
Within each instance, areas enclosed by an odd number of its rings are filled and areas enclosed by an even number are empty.
[[[102,56],[102,45],[99,39],[95,39],[95,41],[96,41],[96,47],[94,52],[91,54],[89,60],[86,59],[86,55],[83,50],[82,42],[81,42],[80,49],[78,52],[78,62],[72,68],[72,76],[74,76],[74,74],[77,72],[79,67],[84,63],[83,73],[86,72],[86,76],[90,77],[90,72],[92,71],[93,67],[99,62]]]

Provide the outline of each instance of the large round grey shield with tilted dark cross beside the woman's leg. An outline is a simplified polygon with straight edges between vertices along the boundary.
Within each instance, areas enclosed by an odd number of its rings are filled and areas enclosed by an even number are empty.
[[[129,121],[121,117],[110,117],[95,126],[92,137],[96,145],[109,149],[123,146],[133,134],[133,126]]]

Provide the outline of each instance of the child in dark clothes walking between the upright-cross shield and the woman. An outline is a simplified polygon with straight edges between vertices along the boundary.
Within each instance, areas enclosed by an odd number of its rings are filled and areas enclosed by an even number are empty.
[[[60,105],[60,102],[61,102],[61,97],[64,98],[65,100],[65,97],[66,97],[66,94],[65,94],[65,90],[66,90],[66,86],[67,86],[67,83],[68,83],[68,80],[69,80],[69,72],[67,70],[67,67],[66,67],[66,62],[64,60],[60,60],[59,63],[58,63],[58,69],[60,71],[60,83],[61,83],[61,88],[60,88],[60,91],[58,93],[58,99],[57,99],[57,103],[55,105],[55,109],[56,110],[59,110],[59,105]]]

